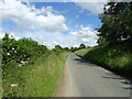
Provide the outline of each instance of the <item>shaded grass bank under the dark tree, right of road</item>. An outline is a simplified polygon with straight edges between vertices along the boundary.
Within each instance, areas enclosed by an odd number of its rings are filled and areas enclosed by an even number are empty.
[[[132,78],[132,52],[130,50],[98,46],[77,51],[76,54],[107,69]]]

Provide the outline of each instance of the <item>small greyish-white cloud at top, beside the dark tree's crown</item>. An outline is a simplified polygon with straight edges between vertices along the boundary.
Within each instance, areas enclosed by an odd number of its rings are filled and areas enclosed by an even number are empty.
[[[82,9],[87,9],[92,14],[100,14],[103,12],[103,6],[106,4],[106,0],[103,2],[76,2],[77,6]]]

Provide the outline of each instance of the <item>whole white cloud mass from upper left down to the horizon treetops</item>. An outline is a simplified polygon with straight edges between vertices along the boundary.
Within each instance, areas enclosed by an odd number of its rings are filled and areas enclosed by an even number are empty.
[[[78,47],[81,43],[96,45],[96,32],[89,26],[76,25],[79,30],[64,34],[68,30],[66,18],[56,13],[52,7],[36,9],[34,6],[26,6],[15,0],[6,0],[1,4],[2,21],[10,20],[18,25],[15,30],[7,30],[16,40],[32,37],[48,48],[58,44],[62,47]],[[1,32],[0,36],[3,36]]]

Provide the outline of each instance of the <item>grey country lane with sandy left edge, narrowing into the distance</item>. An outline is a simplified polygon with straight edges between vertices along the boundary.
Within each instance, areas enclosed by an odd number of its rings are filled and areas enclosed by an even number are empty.
[[[128,79],[70,54],[56,97],[130,97],[130,87]]]

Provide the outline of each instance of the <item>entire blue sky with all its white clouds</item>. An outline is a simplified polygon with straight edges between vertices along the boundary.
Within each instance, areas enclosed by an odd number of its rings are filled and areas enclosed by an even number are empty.
[[[32,37],[48,48],[95,46],[105,3],[0,1],[0,38],[9,33],[16,40]]]

